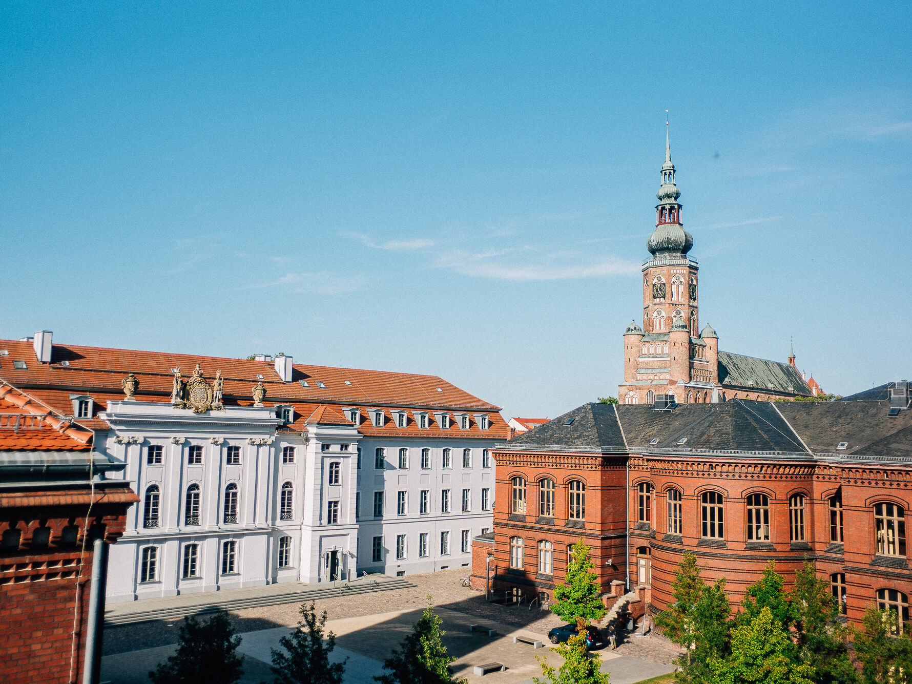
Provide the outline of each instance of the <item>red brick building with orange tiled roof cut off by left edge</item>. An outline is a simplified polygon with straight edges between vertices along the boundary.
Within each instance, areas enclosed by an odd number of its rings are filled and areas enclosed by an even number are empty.
[[[87,641],[100,647],[100,619],[93,622],[91,611],[103,615],[104,585],[94,588],[100,604],[93,602],[93,543],[118,539],[137,497],[124,482],[103,479],[117,466],[92,451],[91,440],[89,430],[0,380],[5,684],[81,681]]]

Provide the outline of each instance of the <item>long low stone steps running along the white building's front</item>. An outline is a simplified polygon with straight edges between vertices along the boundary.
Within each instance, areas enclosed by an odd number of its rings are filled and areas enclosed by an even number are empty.
[[[376,591],[407,589],[415,585],[407,580],[385,575],[335,582],[325,585],[270,585],[252,589],[229,589],[206,594],[170,598],[150,598],[127,604],[113,604],[105,611],[105,627],[131,625],[151,620],[172,620],[191,615],[205,615],[218,610],[242,610],[286,603],[304,603],[334,596],[356,596]],[[279,587],[275,590],[275,587]]]

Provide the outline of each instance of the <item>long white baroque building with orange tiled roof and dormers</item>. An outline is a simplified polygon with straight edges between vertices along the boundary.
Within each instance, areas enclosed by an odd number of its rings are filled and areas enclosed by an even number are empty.
[[[111,602],[468,568],[492,527],[490,450],[509,430],[440,378],[52,345],[47,331],[0,354],[16,361],[0,378],[94,430],[94,450],[126,466],[110,476],[140,496],[110,548]]]

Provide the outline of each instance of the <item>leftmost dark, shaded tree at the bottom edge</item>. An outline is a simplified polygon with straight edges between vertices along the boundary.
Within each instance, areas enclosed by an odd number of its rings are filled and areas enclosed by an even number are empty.
[[[244,673],[244,658],[234,653],[240,643],[241,637],[234,635],[224,611],[215,613],[208,622],[184,617],[177,651],[159,663],[149,679],[154,684],[232,684]]]

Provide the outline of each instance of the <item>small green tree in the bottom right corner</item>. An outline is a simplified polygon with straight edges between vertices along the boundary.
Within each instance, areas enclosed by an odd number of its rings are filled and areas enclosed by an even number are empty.
[[[852,630],[864,684],[912,682],[912,639],[892,636],[895,628],[896,613],[871,606],[862,618],[862,631]]]

